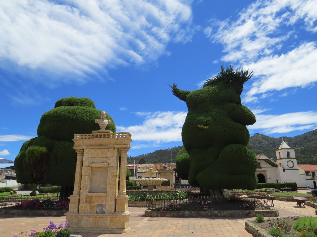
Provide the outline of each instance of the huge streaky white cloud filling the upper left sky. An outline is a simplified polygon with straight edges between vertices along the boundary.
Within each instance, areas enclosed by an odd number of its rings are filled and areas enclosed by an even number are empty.
[[[170,41],[191,40],[195,30],[189,27],[189,4],[1,1],[0,57],[19,66],[80,76],[104,67],[142,64],[162,55]]]

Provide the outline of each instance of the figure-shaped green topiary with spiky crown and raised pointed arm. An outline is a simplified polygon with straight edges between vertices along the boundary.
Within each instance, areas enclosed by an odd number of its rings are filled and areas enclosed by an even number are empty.
[[[222,189],[256,187],[256,155],[246,145],[246,125],[256,122],[254,114],[241,104],[243,83],[251,73],[221,68],[202,89],[172,93],[184,100],[188,114],[182,130],[184,149],[176,157],[176,168],[189,184],[211,190],[222,199]],[[189,169],[188,169],[189,167]]]

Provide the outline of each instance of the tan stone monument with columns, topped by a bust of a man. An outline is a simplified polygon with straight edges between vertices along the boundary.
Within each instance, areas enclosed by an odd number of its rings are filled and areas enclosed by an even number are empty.
[[[103,117],[104,115],[104,117]],[[106,112],[96,119],[100,131],[74,135],[77,152],[74,192],[69,197],[69,211],[65,214],[68,229],[74,232],[126,233],[130,230],[126,179],[119,179],[119,151],[121,167],[126,167],[127,151],[131,148],[131,134],[105,130]],[[111,122],[111,121],[109,121]],[[126,177],[126,169],[120,169]]]

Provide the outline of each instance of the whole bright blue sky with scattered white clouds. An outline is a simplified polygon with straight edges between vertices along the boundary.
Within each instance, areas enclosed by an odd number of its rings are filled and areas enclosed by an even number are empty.
[[[249,132],[317,128],[317,1],[1,1],[0,157],[14,160],[44,112],[88,97],[132,134],[128,155],[182,145],[185,102],[221,65],[253,70]]]

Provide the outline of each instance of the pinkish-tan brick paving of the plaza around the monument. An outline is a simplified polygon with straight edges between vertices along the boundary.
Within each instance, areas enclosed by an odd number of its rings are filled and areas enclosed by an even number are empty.
[[[309,206],[297,208],[295,202],[274,201],[275,209],[280,216],[314,216],[315,209]],[[131,230],[126,234],[88,234],[77,233],[83,237],[251,237],[244,229],[246,220],[252,218],[170,218],[145,217],[145,208],[129,208]],[[59,225],[65,216],[7,216],[0,215],[0,237],[11,237],[19,232],[36,229],[41,231],[49,225],[49,221]],[[76,233],[74,233],[76,234]],[[24,235],[21,235],[24,237]]]

